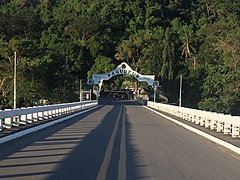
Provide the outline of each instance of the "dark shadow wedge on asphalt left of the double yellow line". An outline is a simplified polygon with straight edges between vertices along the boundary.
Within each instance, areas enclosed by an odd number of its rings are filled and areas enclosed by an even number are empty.
[[[106,116],[99,120],[101,124],[73,149],[54,174],[47,178],[48,180],[95,180],[97,178],[121,105],[120,102],[114,103]],[[116,146],[116,141],[114,146]],[[112,159],[114,158],[111,158],[111,161]]]

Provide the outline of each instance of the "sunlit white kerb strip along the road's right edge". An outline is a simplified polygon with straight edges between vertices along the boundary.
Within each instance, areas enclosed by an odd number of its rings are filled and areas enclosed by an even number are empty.
[[[203,131],[195,129],[195,128],[191,127],[191,126],[188,126],[188,125],[186,125],[186,124],[184,124],[182,122],[179,122],[179,121],[177,121],[177,120],[175,120],[175,119],[173,119],[171,117],[168,117],[168,116],[166,116],[166,115],[164,115],[164,114],[162,114],[162,113],[160,113],[158,111],[155,111],[155,110],[153,110],[153,109],[151,109],[151,108],[149,108],[147,106],[144,106],[144,107],[146,109],[148,109],[148,110],[150,110],[150,111],[152,111],[152,112],[154,112],[154,113],[156,113],[156,114],[158,114],[158,115],[160,115],[160,116],[162,116],[162,117],[164,117],[164,118],[166,118],[166,119],[168,119],[168,120],[170,120],[170,121],[172,121],[172,122],[174,122],[174,123],[176,123],[176,124],[178,124],[178,125],[180,125],[182,127],[184,127],[185,129],[188,129],[188,130],[190,130],[190,131],[192,131],[192,132],[194,132],[194,133],[196,133],[196,134],[198,134],[200,136],[203,136],[203,137],[205,137],[205,138],[207,138],[207,139],[209,139],[209,140],[211,140],[211,141],[213,141],[213,142],[215,142],[215,143],[217,143],[217,144],[219,144],[221,146],[224,146],[225,148],[230,149],[231,151],[233,151],[233,152],[235,152],[235,153],[240,155],[240,148],[239,147],[234,146],[234,145],[232,145],[232,144],[230,144],[228,142],[225,142],[225,141],[223,141],[221,139],[218,139],[218,138],[216,138],[214,136],[211,136],[211,135],[209,135],[209,134],[207,134],[207,133],[205,133]]]

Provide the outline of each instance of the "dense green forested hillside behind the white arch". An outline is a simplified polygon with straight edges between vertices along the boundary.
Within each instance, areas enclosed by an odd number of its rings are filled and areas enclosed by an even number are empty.
[[[240,113],[239,0],[1,0],[0,108],[78,100],[79,79],[120,61],[171,102]],[[117,85],[116,85],[117,86]]]

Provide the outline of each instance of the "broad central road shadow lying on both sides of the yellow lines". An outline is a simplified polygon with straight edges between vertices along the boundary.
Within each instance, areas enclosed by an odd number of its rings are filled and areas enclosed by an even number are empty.
[[[113,106],[113,109],[107,113],[103,118],[102,123],[97,126],[94,131],[91,132],[75,149],[71,154],[61,162],[61,165],[56,169],[48,180],[61,180],[61,179],[80,179],[80,180],[96,180],[101,164],[104,161],[107,146],[109,144],[111,135],[113,133],[114,126],[116,125],[116,119],[120,111],[121,106],[138,107],[136,101],[112,101],[104,100],[101,104],[105,106]],[[111,160],[107,169],[105,180],[117,180],[119,159],[121,155],[121,135],[122,135],[122,118],[118,124],[117,133],[112,149]],[[144,176],[139,172],[139,169],[146,166],[141,164],[138,160],[141,158],[138,156],[138,149],[131,144],[132,125],[126,116],[126,179],[148,179],[148,176]]]

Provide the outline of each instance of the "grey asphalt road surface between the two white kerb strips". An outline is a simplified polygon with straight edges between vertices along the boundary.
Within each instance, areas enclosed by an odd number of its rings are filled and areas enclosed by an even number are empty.
[[[114,101],[0,145],[0,179],[239,180],[240,156]]]

